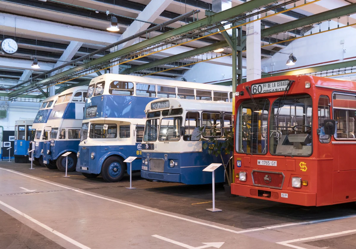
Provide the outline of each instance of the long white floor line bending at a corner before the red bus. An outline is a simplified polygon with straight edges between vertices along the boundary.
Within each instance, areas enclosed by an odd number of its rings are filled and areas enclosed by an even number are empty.
[[[25,176],[27,178],[31,178],[31,179],[35,179],[35,180],[38,180],[38,181],[46,182],[46,183],[52,184],[54,186],[63,187],[64,189],[74,190],[74,191],[76,191],[78,193],[81,193],[81,194],[84,194],[84,195],[93,196],[93,197],[100,198],[100,199],[103,199],[103,200],[106,200],[106,201],[116,202],[116,203],[119,203],[119,204],[122,204],[122,205],[138,208],[138,209],[141,209],[141,210],[145,210],[145,211],[148,211],[148,212],[161,214],[161,215],[172,217],[172,218],[176,218],[176,219],[181,219],[183,221],[188,221],[188,222],[192,222],[192,223],[203,225],[203,226],[217,228],[217,229],[220,229],[220,230],[223,230],[223,231],[227,231],[227,232],[231,232],[231,233],[249,233],[249,232],[256,232],[256,231],[268,230],[268,229],[279,228],[279,227],[296,226],[296,225],[302,225],[302,224],[312,224],[312,223],[317,223],[317,222],[333,221],[333,220],[337,220],[337,219],[346,219],[346,218],[356,217],[356,215],[349,215],[349,216],[342,216],[342,217],[329,218],[329,219],[319,219],[319,220],[314,220],[314,221],[288,223],[288,224],[281,224],[281,225],[276,225],[276,226],[269,226],[269,227],[261,227],[261,228],[253,228],[253,229],[246,229],[246,230],[236,231],[236,230],[232,230],[232,229],[229,229],[229,228],[215,226],[213,224],[208,224],[208,223],[204,223],[204,222],[200,222],[200,221],[194,221],[192,219],[179,217],[179,216],[176,216],[176,215],[173,215],[173,214],[163,213],[163,212],[159,212],[159,211],[156,211],[156,210],[152,210],[152,209],[148,209],[148,208],[132,205],[130,203],[125,203],[125,202],[122,202],[122,201],[116,201],[116,200],[113,200],[113,199],[110,199],[110,198],[106,198],[106,197],[102,197],[102,196],[98,196],[98,195],[94,195],[94,194],[89,194],[87,192],[83,192],[83,191],[80,191],[78,189],[72,189],[70,187],[66,187],[66,186],[62,186],[62,185],[59,185],[59,184],[55,184],[54,182],[49,182],[49,181],[45,181],[45,180],[42,180],[42,179],[38,179],[36,177],[30,176],[30,175],[26,175],[26,174],[22,174],[22,173],[19,173],[17,171],[14,171],[14,170],[9,170],[9,169],[4,169],[4,168],[0,168],[0,169],[6,170],[6,171],[9,171],[11,173],[18,174],[18,175]]]

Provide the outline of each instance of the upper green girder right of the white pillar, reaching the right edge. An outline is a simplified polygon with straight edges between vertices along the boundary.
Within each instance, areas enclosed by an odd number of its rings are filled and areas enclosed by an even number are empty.
[[[265,28],[261,30],[261,37],[275,35],[278,33],[282,33],[284,31],[294,30],[295,28],[312,25],[314,23],[331,20],[337,17],[346,16],[353,13],[356,13],[356,4],[349,4],[346,6],[342,6],[340,8],[328,10],[312,16],[303,17],[291,22],[286,22],[270,28]]]

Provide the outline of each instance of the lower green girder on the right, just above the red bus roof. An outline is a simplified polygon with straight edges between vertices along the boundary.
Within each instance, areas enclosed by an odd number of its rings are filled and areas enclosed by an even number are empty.
[[[347,62],[339,62],[339,63],[321,65],[321,66],[317,66],[317,67],[292,70],[292,71],[287,71],[287,72],[283,72],[283,73],[275,73],[272,75],[267,74],[267,75],[263,76],[262,78],[271,77],[271,76],[282,76],[282,75],[300,75],[300,74],[318,73],[318,72],[324,72],[324,71],[342,69],[342,68],[350,68],[350,67],[356,67],[356,60],[349,60]]]

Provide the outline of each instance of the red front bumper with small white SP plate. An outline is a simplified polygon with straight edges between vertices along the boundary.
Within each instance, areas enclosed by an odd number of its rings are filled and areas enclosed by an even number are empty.
[[[232,183],[231,194],[300,206],[316,206],[316,193],[270,189],[267,187]]]

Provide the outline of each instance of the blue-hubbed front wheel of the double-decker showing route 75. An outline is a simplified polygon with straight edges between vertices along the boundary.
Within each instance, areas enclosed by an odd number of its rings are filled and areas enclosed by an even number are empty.
[[[107,158],[101,168],[101,176],[106,182],[118,182],[124,177],[125,163],[120,157]]]

